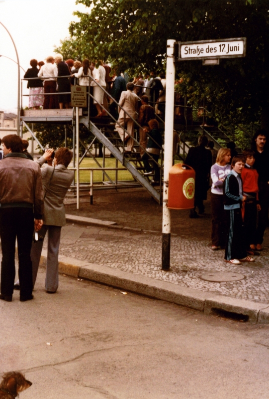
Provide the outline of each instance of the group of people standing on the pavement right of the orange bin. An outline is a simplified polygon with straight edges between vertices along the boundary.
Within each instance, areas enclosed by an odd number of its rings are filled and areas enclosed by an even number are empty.
[[[211,248],[225,248],[225,260],[232,264],[253,262],[252,256],[263,249],[269,212],[267,140],[267,131],[258,130],[252,148],[239,155],[233,142],[216,153],[207,137],[201,136],[185,160],[195,170],[194,208],[189,217],[204,213],[210,178]]]

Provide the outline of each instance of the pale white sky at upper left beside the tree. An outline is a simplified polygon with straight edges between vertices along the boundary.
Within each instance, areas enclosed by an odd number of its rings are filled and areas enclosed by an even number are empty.
[[[30,59],[44,60],[53,55],[54,45],[69,36],[71,21],[78,20],[73,12],[88,11],[76,0],[0,0],[0,22],[11,34],[19,56],[19,63],[25,71],[30,68]],[[17,112],[17,65],[13,43],[0,24],[0,110]],[[23,77],[23,70],[21,77]],[[28,94],[27,82],[23,94]],[[28,97],[23,98],[23,107]]]

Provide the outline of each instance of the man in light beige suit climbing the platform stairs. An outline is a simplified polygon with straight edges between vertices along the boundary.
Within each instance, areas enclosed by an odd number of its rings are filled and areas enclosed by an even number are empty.
[[[120,96],[119,105],[124,109],[119,107],[119,119],[116,123],[116,129],[118,134],[121,137],[121,140],[124,144],[126,144],[126,152],[130,153],[133,151],[134,141],[132,137],[134,137],[134,121],[130,118],[136,119],[137,117],[137,105],[139,97],[133,92],[134,84],[129,82],[127,83],[127,91],[123,91]],[[124,126],[124,111],[128,112],[125,113],[125,124],[127,125],[127,132],[131,135],[131,137],[124,132],[121,126]],[[121,125],[121,126],[120,126]],[[125,126],[124,126],[125,127]]]

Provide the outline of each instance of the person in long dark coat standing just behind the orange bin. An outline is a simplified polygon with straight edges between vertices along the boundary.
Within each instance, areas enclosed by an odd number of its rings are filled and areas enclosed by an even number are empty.
[[[200,136],[198,147],[191,147],[185,160],[185,164],[195,171],[194,208],[189,213],[189,217],[191,218],[198,217],[195,211],[196,206],[198,207],[199,214],[204,213],[203,200],[206,200],[207,197],[208,178],[212,166],[212,154],[205,148],[207,143],[207,137]]]

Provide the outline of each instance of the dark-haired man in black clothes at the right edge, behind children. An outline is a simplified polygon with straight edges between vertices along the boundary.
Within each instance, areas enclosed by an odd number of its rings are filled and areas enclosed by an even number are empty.
[[[264,233],[268,224],[268,210],[269,210],[269,150],[267,144],[267,130],[257,130],[252,139],[252,150],[255,152],[254,169],[259,174],[259,200],[261,210],[258,212],[258,226],[257,226],[257,245],[256,249],[262,249],[264,241]]]

